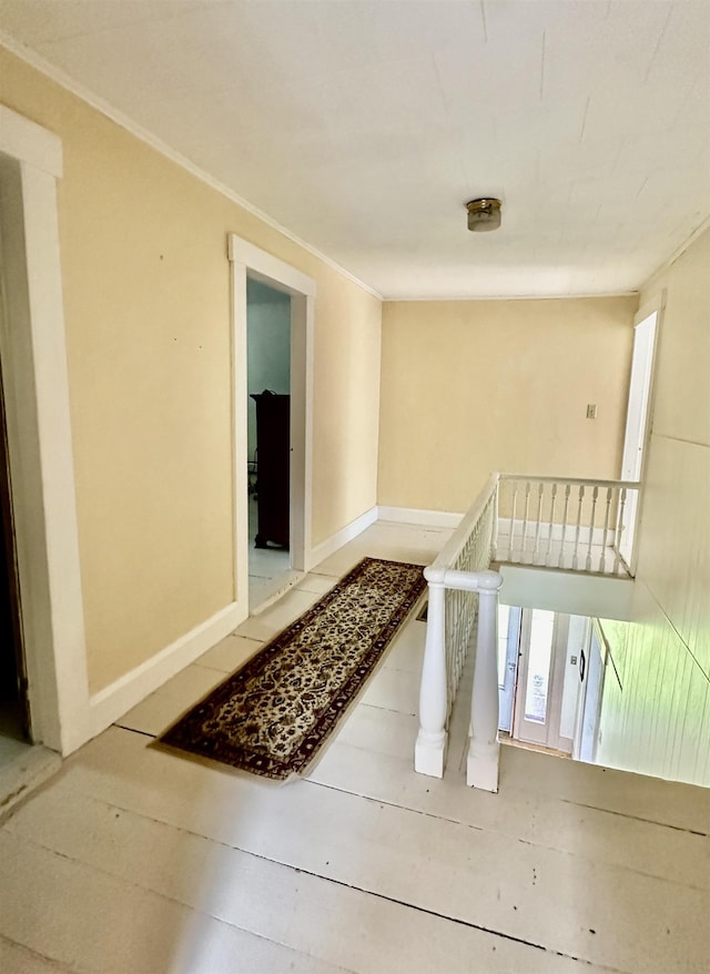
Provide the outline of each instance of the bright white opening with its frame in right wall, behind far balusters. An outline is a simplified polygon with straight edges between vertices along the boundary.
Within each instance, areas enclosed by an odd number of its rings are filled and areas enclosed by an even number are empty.
[[[641,489],[638,495],[631,494],[627,497],[626,525],[619,545],[619,555],[632,576],[636,575],[635,541],[641,519],[643,479],[648,463],[648,443],[651,436],[649,419],[652,416],[656,349],[665,304],[666,292],[663,291],[659,301],[639,308],[633,316],[633,351],[620,479],[639,480]]]

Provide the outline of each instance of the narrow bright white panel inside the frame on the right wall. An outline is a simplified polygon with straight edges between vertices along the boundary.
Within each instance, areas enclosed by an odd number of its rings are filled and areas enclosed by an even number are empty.
[[[627,407],[626,435],[621,460],[622,480],[640,480],[643,471],[643,452],[646,449],[651,399],[657,317],[658,312],[652,312],[645,316],[633,328],[629,404]],[[629,494],[623,511],[625,529],[619,544],[619,554],[629,567],[632,567],[631,559],[638,513],[638,495]]]

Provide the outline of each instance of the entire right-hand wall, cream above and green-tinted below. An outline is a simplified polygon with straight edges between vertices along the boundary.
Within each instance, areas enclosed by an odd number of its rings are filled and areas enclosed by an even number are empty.
[[[666,291],[635,621],[607,627],[598,758],[710,785],[710,230],[643,287]]]

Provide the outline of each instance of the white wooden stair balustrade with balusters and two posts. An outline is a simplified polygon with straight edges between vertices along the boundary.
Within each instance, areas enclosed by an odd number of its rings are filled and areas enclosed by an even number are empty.
[[[501,491],[509,483],[514,486]],[[549,490],[547,485],[551,485]],[[475,630],[466,781],[487,791],[498,790],[497,623],[503,579],[489,566],[495,558],[605,575],[618,575],[626,568],[630,575],[640,489],[637,480],[490,475],[437,558],[424,570],[429,605],[416,771],[437,778],[444,774],[448,719]]]

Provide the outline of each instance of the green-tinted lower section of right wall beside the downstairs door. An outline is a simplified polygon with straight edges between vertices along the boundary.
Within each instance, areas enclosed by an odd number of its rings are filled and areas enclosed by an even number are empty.
[[[643,582],[636,598],[640,621],[602,621],[619,681],[605,681],[597,761],[710,787],[710,680]]]

